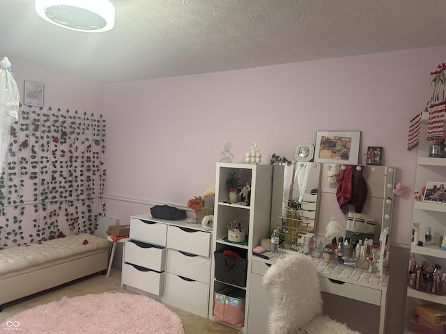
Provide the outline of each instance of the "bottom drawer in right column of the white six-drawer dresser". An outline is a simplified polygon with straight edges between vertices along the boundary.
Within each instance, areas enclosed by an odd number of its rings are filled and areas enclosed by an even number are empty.
[[[201,308],[208,306],[209,285],[197,280],[187,280],[173,273],[166,273],[166,289],[164,294],[173,296],[187,303],[199,305]]]

